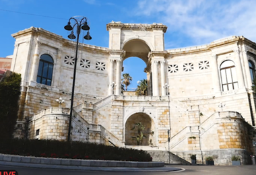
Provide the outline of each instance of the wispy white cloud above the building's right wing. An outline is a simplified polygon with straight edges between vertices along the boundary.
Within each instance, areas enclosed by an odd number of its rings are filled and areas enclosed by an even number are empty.
[[[256,1],[140,0],[135,15],[156,17],[168,26],[168,34],[178,32],[194,44],[236,35],[256,40]]]

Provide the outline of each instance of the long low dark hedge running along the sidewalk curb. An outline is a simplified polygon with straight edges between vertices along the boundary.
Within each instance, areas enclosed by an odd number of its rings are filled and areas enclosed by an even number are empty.
[[[150,162],[146,151],[79,141],[0,139],[0,153],[84,160],[129,160]]]

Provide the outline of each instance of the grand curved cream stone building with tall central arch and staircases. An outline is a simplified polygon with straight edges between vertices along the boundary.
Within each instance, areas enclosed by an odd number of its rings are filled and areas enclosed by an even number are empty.
[[[199,163],[213,156],[216,165],[228,165],[232,155],[250,163],[255,42],[231,36],[165,50],[163,24],[111,22],[106,30],[108,48],[79,44],[72,140],[170,150],[189,162],[196,154]],[[12,36],[11,71],[22,74],[18,125],[29,119],[30,139],[66,140],[75,42],[34,27]],[[146,63],[147,96],[121,94],[123,61],[129,57]],[[64,103],[56,102],[60,97]],[[145,126],[140,146],[131,139],[136,122]]]

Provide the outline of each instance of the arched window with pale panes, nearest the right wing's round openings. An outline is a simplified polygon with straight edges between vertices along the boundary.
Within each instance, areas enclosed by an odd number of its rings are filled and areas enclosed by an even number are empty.
[[[222,65],[220,65],[220,75],[222,77],[222,91],[238,89],[236,67],[233,61],[224,61]]]

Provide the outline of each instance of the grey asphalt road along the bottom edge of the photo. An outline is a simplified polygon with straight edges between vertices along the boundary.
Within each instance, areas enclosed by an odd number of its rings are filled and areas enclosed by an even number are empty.
[[[19,175],[42,175],[42,174],[56,174],[56,175],[67,175],[67,174],[141,174],[141,175],[166,175],[166,174],[189,174],[189,175],[255,175],[256,166],[178,166],[171,165],[172,167],[185,168],[185,171],[182,172],[99,172],[99,171],[80,171],[80,170],[56,170],[56,169],[42,169],[42,168],[22,168],[22,167],[13,167],[13,166],[0,166],[0,170],[16,170]],[[129,170],[129,169],[128,169]]]

